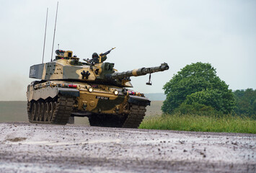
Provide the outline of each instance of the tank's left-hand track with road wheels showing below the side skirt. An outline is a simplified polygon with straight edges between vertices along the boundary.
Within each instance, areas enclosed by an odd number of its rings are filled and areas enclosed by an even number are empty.
[[[30,123],[66,125],[72,112],[73,97],[59,96],[56,99],[27,102]]]

